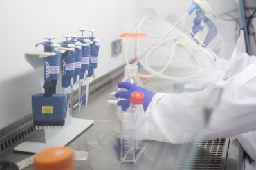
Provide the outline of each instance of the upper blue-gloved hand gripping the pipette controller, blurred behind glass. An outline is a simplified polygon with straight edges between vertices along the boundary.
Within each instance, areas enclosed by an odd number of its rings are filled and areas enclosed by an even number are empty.
[[[208,26],[209,31],[203,41],[203,44],[205,46],[208,46],[210,41],[214,39],[214,37],[218,33],[217,26],[215,23],[208,18],[205,13],[202,10],[196,10],[196,17],[194,18],[194,26],[192,27],[192,33],[196,35],[199,31],[204,29],[204,26],[202,26],[202,21]]]

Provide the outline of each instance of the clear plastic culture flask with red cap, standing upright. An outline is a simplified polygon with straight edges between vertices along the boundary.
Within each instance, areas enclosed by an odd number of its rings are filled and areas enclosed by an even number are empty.
[[[140,91],[131,93],[130,106],[123,113],[121,131],[121,162],[136,162],[145,149],[144,95]]]

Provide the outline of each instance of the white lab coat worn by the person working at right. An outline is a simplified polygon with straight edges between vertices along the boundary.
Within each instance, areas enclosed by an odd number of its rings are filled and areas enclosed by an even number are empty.
[[[217,86],[223,93],[208,124],[203,124],[202,106],[213,88],[194,93],[156,93],[146,111],[146,138],[181,143],[237,136],[256,161],[256,57],[235,50],[230,61],[222,64],[226,78]],[[256,169],[255,164],[246,159],[246,170]]]

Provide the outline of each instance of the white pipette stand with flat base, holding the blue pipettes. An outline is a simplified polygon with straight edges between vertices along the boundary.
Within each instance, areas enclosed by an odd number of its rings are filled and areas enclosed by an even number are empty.
[[[41,88],[44,84],[44,65],[43,58],[39,58],[39,55],[35,54],[25,54],[25,59],[28,61],[31,66],[33,66],[37,77],[39,78],[39,82]],[[59,83],[60,84],[60,83]],[[61,91],[61,87],[57,84],[57,90]],[[42,88],[42,92],[44,89]],[[94,120],[86,120],[80,118],[70,117],[69,109],[67,109],[67,116],[65,119],[64,126],[51,126],[43,129],[44,138],[39,139],[38,142],[26,141],[19,144],[15,147],[15,151],[24,151],[30,153],[37,153],[42,149],[46,149],[48,147],[56,147],[56,146],[65,146],[68,142],[71,142],[77,135],[86,130],[89,126],[93,124]]]

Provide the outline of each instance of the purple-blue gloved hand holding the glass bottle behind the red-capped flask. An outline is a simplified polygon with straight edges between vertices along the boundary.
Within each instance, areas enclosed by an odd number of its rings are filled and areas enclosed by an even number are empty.
[[[127,111],[127,108],[130,106],[130,97],[131,93],[134,91],[140,91],[144,94],[144,100],[143,100],[143,109],[144,111],[147,110],[147,106],[149,106],[149,103],[152,100],[152,97],[156,94],[152,91],[148,91],[147,89],[137,86],[136,84],[132,84],[129,82],[120,82],[118,84],[118,88],[125,88],[127,91],[118,91],[115,94],[116,98],[123,98],[124,100],[118,101],[118,106],[122,107],[122,111]]]

